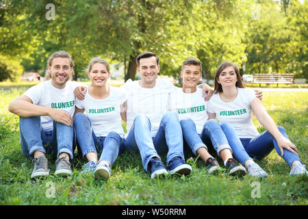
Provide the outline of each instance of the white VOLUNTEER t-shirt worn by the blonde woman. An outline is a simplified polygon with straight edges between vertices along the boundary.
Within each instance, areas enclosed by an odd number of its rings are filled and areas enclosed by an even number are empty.
[[[110,95],[105,99],[94,99],[89,94],[89,89],[83,101],[76,99],[76,107],[84,109],[91,121],[92,129],[96,136],[107,136],[110,131],[116,131],[124,138],[124,130],[120,116],[120,105],[127,95],[120,88],[110,86]]]

